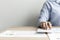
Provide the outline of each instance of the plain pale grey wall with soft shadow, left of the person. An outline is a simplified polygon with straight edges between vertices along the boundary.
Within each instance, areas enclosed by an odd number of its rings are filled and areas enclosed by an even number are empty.
[[[0,30],[8,26],[36,26],[45,0],[0,0]]]

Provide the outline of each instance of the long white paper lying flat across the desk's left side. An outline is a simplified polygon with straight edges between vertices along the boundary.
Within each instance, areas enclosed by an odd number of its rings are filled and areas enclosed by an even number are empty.
[[[37,34],[36,31],[6,30],[0,33],[0,37],[47,37],[45,34]]]

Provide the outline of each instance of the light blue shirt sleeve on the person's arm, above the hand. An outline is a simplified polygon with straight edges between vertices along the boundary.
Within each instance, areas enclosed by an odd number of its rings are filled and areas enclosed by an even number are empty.
[[[49,20],[49,17],[50,17],[50,13],[51,13],[51,6],[50,6],[50,3],[48,1],[46,1],[44,4],[43,4],[43,7],[40,11],[40,16],[39,16],[39,23],[40,22],[46,22]]]

